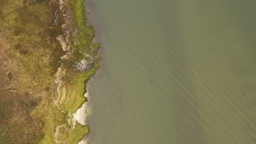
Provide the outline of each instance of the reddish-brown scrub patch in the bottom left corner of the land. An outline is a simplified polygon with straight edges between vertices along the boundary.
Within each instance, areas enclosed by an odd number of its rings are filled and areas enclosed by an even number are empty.
[[[5,91],[0,95],[0,143],[33,142],[40,126],[30,111],[38,105],[38,100],[28,93]]]

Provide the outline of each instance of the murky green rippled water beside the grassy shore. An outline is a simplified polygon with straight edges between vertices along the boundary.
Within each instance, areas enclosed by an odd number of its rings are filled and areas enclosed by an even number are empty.
[[[92,144],[256,141],[256,1],[88,0]]]

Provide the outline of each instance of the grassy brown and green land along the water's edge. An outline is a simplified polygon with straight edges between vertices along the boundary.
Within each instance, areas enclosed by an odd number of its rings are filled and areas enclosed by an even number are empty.
[[[0,0],[0,143],[78,143],[74,119],[99,68],[84,0]]]

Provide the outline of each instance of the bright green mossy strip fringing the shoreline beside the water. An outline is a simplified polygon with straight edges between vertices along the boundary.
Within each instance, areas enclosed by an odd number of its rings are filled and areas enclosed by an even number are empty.
[[[84,97],[85,83],[89,79],[89,77],[95,74],[95,70],[99,68],[99,65],[97,64],[97,62],[100,61],[100,56],[96,53],[98,50],[99,44],[98,43],[90,44],[92,38],[95,36],[94,35],[95,31],[93,27],[85,26],[86,17],[84,15],[85,13],[84,13],[83,1],[73,0],[71,1],[71,6],[72,6],[71,14],[79,30],[77,39],[73,39],[73,41],[74,40],[77,41],[78,44],[72,45],[72,49],[74,51],[73,57],[72,57],[73,60],[70,59],[70,60],[64,61],[65,65],[63,65],[63,67],[66,68],[67,70],[66,75],[63,77],[66,85],[65,86],[66,97],[60,101],[60,107],[62,110],[66,111],[66,114],[65,114],[66,126],[61,128],[61,131],[63,133],[58,138],[58,140],[64,140],[64,141],[67,141],[68,143],[77,143],[80,139],[82,139],[82,137],[85,134],[89,132],[89,129],[87,126],[82,126],[80,124],[75,124],[75,127],[72,129],[73,127],[72,124],[69,124],[70,122],[69,119],[71,117],[68,115],[68,113],[72,115],[86,101],[86,98]],[[85,71],[77,71],[77,72],[72,71],[72,66],[71,66],[72,62],[80,61],[81,59],[85,58],[85,55],[83,54],[83,52],[85,52],[85,49],[87,47],[89,47],[89,51],[86,51],[86,52],[90,53],[90,55],[92,56],[96,56],[95,58],[97,60],[95,61],[96,64],[94,68],[89,70],[87,73]],[[88,61],[90,61],[90,59],[88,59]],[[61,87],[61,89],[62,88],[63,87]],[[53,126],[49,126],[49,127],[53,127]],[[44,140],[41,142],[42,143],[50,142],[51,141],[50,135],[51,135],[50,133],[45,135]]]

